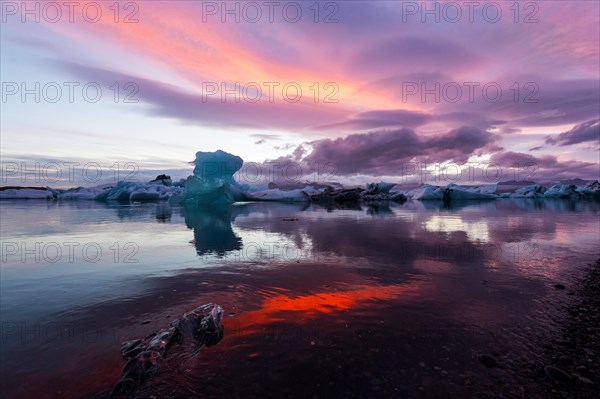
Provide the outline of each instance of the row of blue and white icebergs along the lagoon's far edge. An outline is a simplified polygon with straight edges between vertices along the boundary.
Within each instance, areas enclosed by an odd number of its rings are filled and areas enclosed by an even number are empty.
[[[338,183],[263,183],[258,186],[240,184],[234,174],[240,170],[242,158],[218,150],[196,153],[194,171],[187,179],[174,183],[160,175],[150,182],[121,181],[112,185],[77,187],[68,190],[43,187],[0,188],[0,199],[56,199],[97,201],[169,201],[172,204],[231,204],[240,201],[276,202],[358,202],[358,201],[463,201],[496,198],[566,198],[600,199],[600,183],[584,187],[555,184],[550,188],[533,184],[512,193],[498,194],[497,184],[462,187],[457,184],[437,186],[423,184],[411,190],[398,189],[395,183],[369,183],[365,187],[345,188]]]

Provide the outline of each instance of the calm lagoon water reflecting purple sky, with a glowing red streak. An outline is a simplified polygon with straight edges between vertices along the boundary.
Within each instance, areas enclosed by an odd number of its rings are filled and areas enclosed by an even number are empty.
[[[600,256],[599,209],[4,201],[2,396],[103,397],[121,375],[121,341],[208,302],[225,309],[222,341],[169,352],[138,397],[514,387],[569,301],[554,284],[570,288]]]

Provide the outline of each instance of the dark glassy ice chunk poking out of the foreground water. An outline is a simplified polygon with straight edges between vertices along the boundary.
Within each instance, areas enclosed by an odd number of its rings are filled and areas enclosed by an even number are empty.
[[[111,398],[130,397],[136,387],[158,373],[167,349],[173,344],[191,344],[193,354],[203,346],[211,346],[223,338],[223,309],[209,303],[173,320],[164,328],[142,339],[124,341],[121,355],[126,360],[121,380],[113,388]]]

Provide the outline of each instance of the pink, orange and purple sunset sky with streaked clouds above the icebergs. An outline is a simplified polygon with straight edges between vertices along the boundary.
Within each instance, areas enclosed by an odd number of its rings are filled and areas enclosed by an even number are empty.
[[[45,3],[2,3],[2,162],[151,175],[222,149],[351,181],[447,162],[599,175],[596,1],[99,1],[73,22]]]

